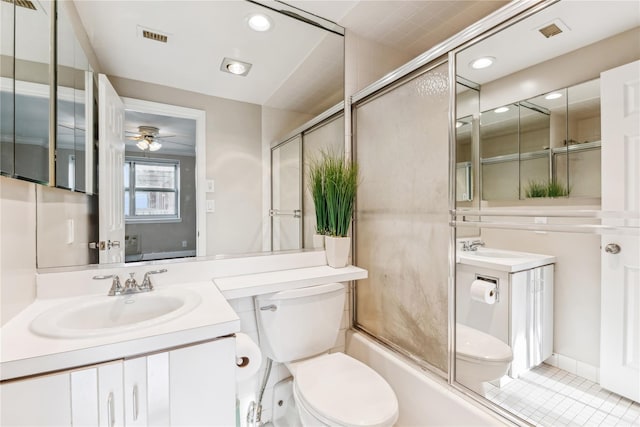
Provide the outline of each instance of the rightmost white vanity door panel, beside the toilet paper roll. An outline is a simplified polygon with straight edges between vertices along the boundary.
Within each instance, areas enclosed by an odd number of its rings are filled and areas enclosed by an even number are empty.
[[[171,425],[235,425],[233,338],[169,353]]]

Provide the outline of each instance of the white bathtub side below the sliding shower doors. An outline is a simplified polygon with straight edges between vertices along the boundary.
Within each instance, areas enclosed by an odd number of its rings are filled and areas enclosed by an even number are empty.
[[[391,385],[400,405],[398,427],[512,425],[362,333],[347,331],[346,352]]]

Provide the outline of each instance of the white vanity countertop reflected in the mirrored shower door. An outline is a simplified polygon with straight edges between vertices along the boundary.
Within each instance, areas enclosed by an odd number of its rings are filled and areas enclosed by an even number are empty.
[[[457,251],[456,262],[491,270],[516,273],[543,265],[553,264],[556,257],[529,252],[478,248],[476,251]]]

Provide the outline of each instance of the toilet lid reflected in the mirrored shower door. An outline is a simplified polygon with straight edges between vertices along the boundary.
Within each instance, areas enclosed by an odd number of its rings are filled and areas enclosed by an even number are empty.
[[[456,323],[456,357],[484,362],[511,362],[511,347],[493,335]]]

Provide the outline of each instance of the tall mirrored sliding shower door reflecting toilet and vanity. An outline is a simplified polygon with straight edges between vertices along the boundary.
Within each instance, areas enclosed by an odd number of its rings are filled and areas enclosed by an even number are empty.
[[[456,52],[455,382],[520,423],[633,424],[640,5],[534,9]]]

